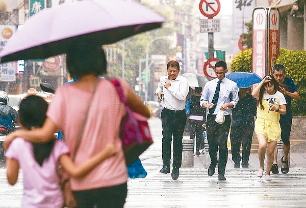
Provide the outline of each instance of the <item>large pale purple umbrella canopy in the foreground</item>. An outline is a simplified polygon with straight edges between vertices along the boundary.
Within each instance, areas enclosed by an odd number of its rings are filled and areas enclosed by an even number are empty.
[[[165,19],[122,0],[84,0],[46,8],[25,21],[0,53],[1,63],[66,53],[78,41],[110,44],[161,27]]]

